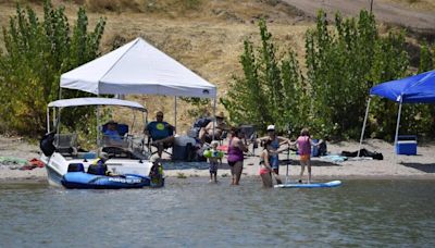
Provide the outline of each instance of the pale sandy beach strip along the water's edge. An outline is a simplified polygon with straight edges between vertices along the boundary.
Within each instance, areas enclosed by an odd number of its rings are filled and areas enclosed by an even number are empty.
[[[333,154],[341,151],[358,150],[358,142],[328,142],[327,151]],[[352,160],[344,162],[332,162],[325,158],[312,159],[313,179],[348,179],[348,178],[426,178],[435,179],[435,144],[419,144],[417,156],[396,156],[393,145],[378,139],[370,139],[363,142],[362,148],[370,151],[381,152],[384,160]],[[261,149],[256,149],[259,154]],[[0,157],[30,160],[39,158],[37,145],[29,144],[17,137],[0,136]],[[287,159],[282,154],[281,159]],[[293,160],[289,165],[290,178],[295,179],[300,171],[298,157],[290,154]],[[257,176],[259,171],[259,158],[247,157],[244,166],[244,176]],[[163,162],[167,177],[195,177],[209,176],[207,163],[187,162]],[[286,166],[279,169],[282,176],[286,173]],[[226,161],[223,161],[219,170],[219,177],[225,181],[231,175]],[[0,182],[46,182],[46,169],[18,170],[16,164],[0,164]],[[229,178],[228,178],[229,181]]]

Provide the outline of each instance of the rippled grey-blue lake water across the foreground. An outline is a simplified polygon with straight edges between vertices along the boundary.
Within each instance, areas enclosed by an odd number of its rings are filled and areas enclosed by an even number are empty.
[[[0,247],[435,247],[435,181],[338,188],[231,187],[167,178],[160,189],[0,184]]]

